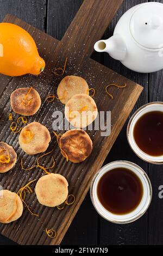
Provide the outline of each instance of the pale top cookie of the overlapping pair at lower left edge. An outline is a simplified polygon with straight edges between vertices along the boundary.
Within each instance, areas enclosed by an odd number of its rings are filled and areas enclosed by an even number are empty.
[[[16,212],[16,193],[3,190],[0,197],[0,222],[6,222],[12,218]]]

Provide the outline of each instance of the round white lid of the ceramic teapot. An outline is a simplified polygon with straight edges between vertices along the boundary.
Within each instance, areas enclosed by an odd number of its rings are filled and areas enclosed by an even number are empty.
[[[141,4],[130,19],[130,32],[138,44],[151,49],[163,47],[163,4]]]

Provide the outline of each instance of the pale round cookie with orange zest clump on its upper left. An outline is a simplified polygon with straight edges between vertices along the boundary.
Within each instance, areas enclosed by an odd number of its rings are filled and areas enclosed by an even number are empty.
[[[51,135],[46,126],[38,122],[30,123],[23,127],[18,142],[28,155],[43,153],[47,150]]]

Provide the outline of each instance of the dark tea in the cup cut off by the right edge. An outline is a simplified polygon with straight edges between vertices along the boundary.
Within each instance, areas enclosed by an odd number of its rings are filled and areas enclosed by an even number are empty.
[[[134,139],[146,154],[163,155],[163,112],[152,111],[142,115],[134,126]]]

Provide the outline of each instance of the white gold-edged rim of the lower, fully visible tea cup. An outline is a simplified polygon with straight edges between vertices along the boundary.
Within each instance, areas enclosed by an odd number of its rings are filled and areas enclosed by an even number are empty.
[[[117,215],[106,210],[104,206],[101,204],[97,196],[97,185],[98,185],[99,179],[101,179],[101,177],[106,172],[109,172],[109,170],[120,168],[120,167],[127,168],[133,171],[140,178],[143,186],[143,196],[140,204],[137,206],[136,209],[129,212],[128,214]],[[143,214],[145,214],[152,200],[152,185],[151,185],[151,181],[148,178],[148,175],[145,173],[145,171],[142,168],[137,166],[137,164],[129,161],[114,161],[106,164],[104,167],[99,169],[99,171],[95,174],[90,187],[90,196],[91,196],[92,204],[95,207],[96,211],[105,220],[113,223],[117,223],[117,224],[126,224],[126,223],[136,221]]]

